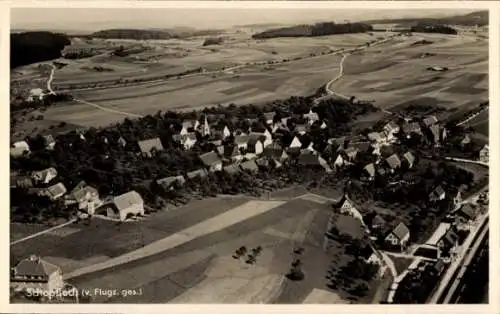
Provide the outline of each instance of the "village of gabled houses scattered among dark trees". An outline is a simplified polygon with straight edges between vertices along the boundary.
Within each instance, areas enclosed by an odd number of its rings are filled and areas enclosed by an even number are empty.
[[[210,120],[214,121],[213,116],[210,116]],[[406,184],[404,182],[409,179],[404,177],[405,173],[411,171],[423,158],[422,152],[417,149],[420,143],[426,143],[432,151],[446,146],[451,137],[448,135],[445,123],[430,115],[413,121],[391,119],[380,124],[380,127],[365,132],[365,135],[328,138],[326,145],[318,147],[315,145],[315,140],[310,138],[310,134],[315,130],[321,132],[327,129],[329,121],[320,119],[318,113],[312,109],[302,115],[289,116],[265,112],[258,118],[244,120],[249,126],[248,129],[232,129],[229,125],[220,123],[221,120],[219,123],[209,123],[208,115],[205,113],[200,119],[186,119],[181,121],[178,127],[172,126],[172,142],[177,143],[183,150],[191,151],[196,145],[203,143],[204,149],[208,151],[198,155],[202,167],[185,171],[183,175],[157,179],[154,185],[166,191],[166,195],[178,197],[176,193],[182,191],[184,185],[211,174],[235,176],[244,173],[251,177],[288,165],[294,165],[298,171],[314,169],[315,173],[320,175],[323,173],[333,178],[338,177],[339,182],[343,180],[343,176],[347,176],[349,178],[348,183],[345,183],[347,185],[351,180],[369,185],[384,178],[400,179],[391,181],[389,185]],[[83,131],[75,134],[81,143],[86,141],[86,134]],[[121,136],[114,139],[103,136],[100,139],[106,145],[116,145],[122,149],[131,147]],[[416,145],[415,139],[418,143]],[[454,135],[453,141],[459,147],[467,147],[471,142],[467,134],[458,137]],[[398,149],[402,142],[406,143],[403,147],[411,147],[408,143],[413,143],[414,148]],[[57,141],[51,135],[43,137],[46,151],[53,151],[57,145]],[[135,145],[140,158],[144,159],[154,158],[164,150],[159,137],[147,138]],[[484,145],[477,153],[476,160],[472,162],[487,164],[488,155],[488,145]],[[30,146],[26,141],[14,143],[11,156],[29,158]],[[349,169],[357,171],[349,172]],[[96,187],[84,181],[68,190],[62,182],[59,182],[58,177],[56,167],[50,167],[24,176],[14,176],[11,186],[22,188],[29,195],[48,199],[63,207],[65,211],[75,212],[77,219],[97,217],[126,223],[129,220],[140,220],[144,215],[154,215],[150,210],[152,204],[148,204],[135,190],[116,196],[103,196]],[[479,203],[487,204],[485,196],[481,195]],[[367,252],[368,263],[379,265],[381,270],[387,267],[394,269],[394,263],[387,262],[387,256],[403,260],[409,257],[410,261],[416,257],[413,263],[406,265],[412,274],[428,269],[425,265],[431,263],[429,267],[437,269],[433,273],[437,276],[435,278],[438,278],[444,267],[453,260],[454,252],[467,237],[471,224],[484,214],[481,211],[485,208],[478,205],[477,201],[475,204],[464,201],[462,188],[446,190],[443,184],[435,185],[427,198],[425,202],[432,204],[431,206],[449,210],[445,211],[445,218],[425,244],[412,243],[410,227],[402,221],[396,219],[387,223],[381,215],[374,212],[369,214],[365,212],[363,215],[346,188],[340,201],[332,205],[334,212],[330,219],[329,230],[326,230],[326,238],[338,236],[356,240],[368,238],[367,243],[372,243],[368,245],[367,250],[364,250]],[[327,242],[328,240],[325,245]],[[386,251],[387,253],[381,253]],[[40,263],[45,265],[47,262],[33,256],[20,261],[13,268],[11,285],[16,289],[25,289],[33,285],[38,287],[39,283],[43,282],[50,289],[61,289],[65,284],[60,277],[60,268],[54,265],[32,268],[31,264]],[[30,269],[42,269],[45,273],[31,274]],[[393,270],[394,277],[396,278],[401,271]],[[54,276],[55,273],[59,275]],[[38,278],[34,284],[33,276]],[[392,289],[390,298],[394,298],[395,295],[396,289],[394,287]]]

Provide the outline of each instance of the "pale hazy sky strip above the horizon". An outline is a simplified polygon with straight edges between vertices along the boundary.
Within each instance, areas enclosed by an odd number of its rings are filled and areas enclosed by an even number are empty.
[[[227,28],[246,24],[351,22],[374,18],[439,17],[474,10],[276,8],[13,8],[11,28],[96,31],[109,28]]]

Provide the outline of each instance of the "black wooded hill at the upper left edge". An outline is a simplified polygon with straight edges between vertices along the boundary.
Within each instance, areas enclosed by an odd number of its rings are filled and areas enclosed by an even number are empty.
[[[61,57],[61,51],[71,42],[65,34],[24,32],[10,35],[10,67],[15,68]],[[35,52],[36,53],[33,53]]]

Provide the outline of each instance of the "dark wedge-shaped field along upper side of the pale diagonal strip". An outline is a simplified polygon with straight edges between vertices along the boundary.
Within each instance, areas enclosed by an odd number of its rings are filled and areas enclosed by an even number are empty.
[[[193,201],[123,224],[95,218],[90,225],[80,222],[11,246],[11,263],[38,254],[67,273],[96,263],[96,258],[104,261],[133,251],[245,202],[244,198]],[[30,231],[24,230],[27,228],[24,224],[11,224],[11,234],[21,238],[31,234],[26,234]]]

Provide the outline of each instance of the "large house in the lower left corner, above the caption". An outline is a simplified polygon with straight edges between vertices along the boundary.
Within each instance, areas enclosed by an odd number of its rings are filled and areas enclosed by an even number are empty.
[[[60,290],[64,287],[61,268],[42,260],[39,256],[31,255],[11,268],[10,287],[18,291]]]

